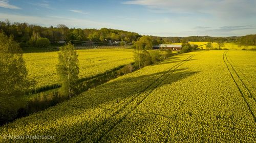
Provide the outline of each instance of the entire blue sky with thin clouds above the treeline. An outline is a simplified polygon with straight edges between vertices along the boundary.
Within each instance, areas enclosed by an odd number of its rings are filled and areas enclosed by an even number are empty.
[[[256,0],[0,0],[0,20],[154,36],[256,34]]]

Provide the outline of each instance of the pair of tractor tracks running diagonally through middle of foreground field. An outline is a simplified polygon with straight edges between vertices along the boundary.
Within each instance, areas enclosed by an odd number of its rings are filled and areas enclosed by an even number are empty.
[[[136,109],[136,108],[145,100],[145,98],[148,97],[148,95],[150,95],[150,94],[154,91],[154,89],[158,87],[158,85],[160,85],[168,76],[170,76],[173,72],[175,72],[175,70],[176,70],[178,67],[180,67],[181,65],[183,65],[184,63],[186,63],[188,60],[192,59],[195,55],[196,55],[196,54],[190,55],[188,58],[186,58],[186,59],[183,60],[182,62],[180,62],[180,63],[178,63],[178,64],[176,64],[176,65],[174,65],[174,66],[168,68],[165,73],[163,73],[160,77],[158,77],[158,78],[157,78],[156,80],[154,80],[151,84],[149,84],[149,85],[148,85],[144,90],[142,90],[135,98],[129,100],[129,101],[126,102],[126,103],[124,103],[124,105],[123,105],[118,111],[116,111],[116,112],[114,113],[114,115],[112,115],[112,117],[118,115],[119,113],[122,113],[122,110],[124,110],[127,105],[131,104],[133,101],[135,101],[137,98],[139,98],[139,96],[140,96],[142,93],[146,92],[148,89],[151,88],[151,90],[150,90],[148,93],[146,93],[146,95],[145,95],[144,97],[142,97],[142,99],[141,99],[140,101],[138,101],[134,107],[132,107],[131,111],[133,111],[134,109]],[[169,73],[169,72],[170,72],[170,73]],[[167,73],[169,73],[169,74],[167,74]],[[164,75],[166,75],[166,74],[167,74],[167,76],[166,76],[165,78],[160,79],[160,78],[162,78],[162,77],[163,77]],[[159,83],[158,83],[157,85],[154,85],[154,83],[157,83],[157,82],[159,82]],[[154,85],[154,86],[152,87],[152,85]],[[114,124],[108,129],[108,131],[106,131],[105,133],[101,134],[100,137],[95,140],[95,142],[99,142],[106,134],[108,134],[111,130],[113,130],[114,127],[117,126],[117,124],[121,123],[121,122],[131,113],[131,111],[125,113],[125,114],[122,116],[122,118],[120,118],[120,119],[118,120],[118,122],[114,123]],[[108,121],[104,121],[101,126],[104,126],[107,122],[108,122]],[[92,133],[92,134],[93,134],[93,133]],[[91,134],[91,135],[92,135],[92,134]]]

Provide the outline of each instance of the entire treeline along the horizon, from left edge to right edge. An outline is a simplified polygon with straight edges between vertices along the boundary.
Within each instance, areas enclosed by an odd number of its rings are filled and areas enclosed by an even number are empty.
[[[134,44],[139,40],[141,35],[134,32],[122,30],[113,30],[109,28],[97,29],[81,29],[69,28],[66,25],[58,24],[57,26],[44,27],[28,23],[11,23],[9,20],[0,21],[0,31],[3,31],[7,36],[13,35],[14,40],[20,43],[20,46],[35,46],[36,40],[39,37],[48,38],[51,43],[56,43],[56,40],[69,39],[80,41],[92,41],[96,43],[112,43],[114,41],[123,41]],[[157,37],[149,36],[153,45],[179,43],[184,41],[194,42],[236,42],[241,45],[255,45],[256,35],[247,35],[242,37],[210,37],[210,36],[189,36],[189,37]],[[124,44],[124,43],[119,43]]]

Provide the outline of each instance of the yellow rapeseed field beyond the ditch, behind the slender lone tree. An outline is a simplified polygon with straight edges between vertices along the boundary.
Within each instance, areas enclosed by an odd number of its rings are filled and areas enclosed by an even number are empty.
[[[85,49],[77,50],[79,77],[90,77],[104,73],[121,65],[132,63],[132,49]],[[58,52],[25,53],[28,77],[34,79],[36,87],[57,83],[56,65]]]

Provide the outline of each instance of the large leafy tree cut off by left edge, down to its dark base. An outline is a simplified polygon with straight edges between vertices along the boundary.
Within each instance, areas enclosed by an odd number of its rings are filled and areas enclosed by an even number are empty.
[[[21,98],[32,82],[27,79],[23,51],[13,37],[0,33],[0,124],[14,120],[26,108]]]

